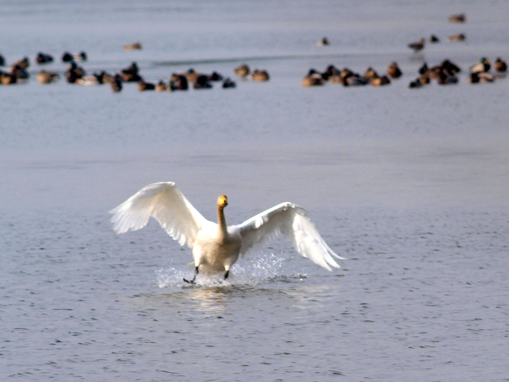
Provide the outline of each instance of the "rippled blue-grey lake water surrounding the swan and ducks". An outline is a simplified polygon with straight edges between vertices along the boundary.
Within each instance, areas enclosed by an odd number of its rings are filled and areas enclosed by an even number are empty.
[[[509,78],[465,73],[509,59],[509,3],[0,4],[0,54],[32,61],[0,86],[2,380],[509,380]],[[38,84],[35,54],[63,74],[65,50],[91,73],[136,61],[149,81],[193,67],[237,87]],[[445,58],[459,84],[408,89]],[[300,85],[392,61],[387,87]],[[234,78],[243,62],[270,80]],[[189,287],[188,249],[155,222],[116,235],[107,213],[168,180],[211,220],[228,195],[230,224],[297,203],[348,259],[329,272],[280,239]]]

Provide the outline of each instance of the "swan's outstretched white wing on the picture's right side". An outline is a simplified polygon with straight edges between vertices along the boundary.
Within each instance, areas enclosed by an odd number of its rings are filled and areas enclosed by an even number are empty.
[[[278,204],[235,227],[242,236],[242,255],[283,234],[298,253],[328,270],[340,268],[333,257],[344,259],[322,239],[307,211],[293,203]]]

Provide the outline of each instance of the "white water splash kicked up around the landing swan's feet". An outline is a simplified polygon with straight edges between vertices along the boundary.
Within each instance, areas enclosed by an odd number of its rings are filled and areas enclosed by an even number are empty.
[[[301,281],[306,276],[302,275],[283,275],[282,262],[286,259],[279,257],[273,253],[262,254],[256,259],[242,261],[241,264],[236,263],[231,271],[228,280],[224,280],[222,274],[204,275],[199,274],[196,277],[197,286],[228,286],[228,285],[260,285],[268,282],[284,281],[293,282]],[[168,268],[156,271],[157,285],[159,288],[171,286],[187,286],[183,279],[192,277],[192,268]]]

